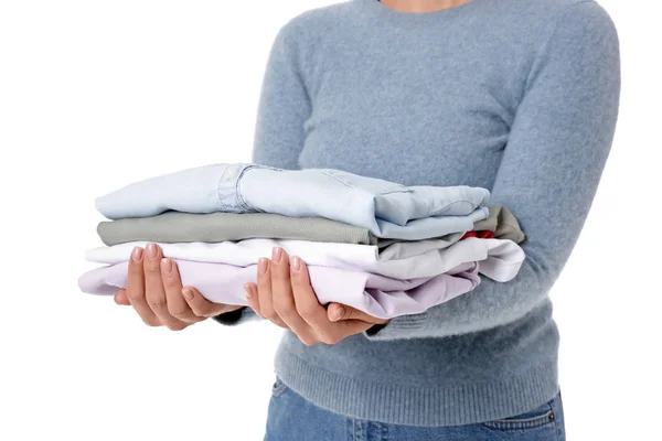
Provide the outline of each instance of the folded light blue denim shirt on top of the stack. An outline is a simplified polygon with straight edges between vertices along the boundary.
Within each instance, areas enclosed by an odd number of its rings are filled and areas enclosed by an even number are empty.
[[[420,240],[468,232],[488,217],[482,187],[405,186],[332,169],[213,164],[136,182],[96,200],[110,219],[185,213],[327,217],[383,238]]]

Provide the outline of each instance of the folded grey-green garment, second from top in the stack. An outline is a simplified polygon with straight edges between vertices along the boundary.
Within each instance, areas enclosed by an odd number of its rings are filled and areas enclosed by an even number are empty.
[[[474,223],[473,229],[490,230],[496,238],[511,239],[515,243],[524,240],[524,234],[515,217],[501,206],[491,206],[490,217]],[[385,248],[403,241],[380,239],[367,228],[323,217],[287,217],[270,213],[166,212],[150,217],[102,222],[97,227],[97,233],[107,246],[139,240],[177,244],[267,238],[376,245]],[[445,236],[445,238],[449,237]]]

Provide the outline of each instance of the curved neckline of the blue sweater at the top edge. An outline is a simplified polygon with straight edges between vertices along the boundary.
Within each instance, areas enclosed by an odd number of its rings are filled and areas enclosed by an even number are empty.
[[[441,9],[435,12],[401,12],[388,8],[378,0],[354,0],[363,11],[394,24],[424,25],[440,20],[448,20],[462,13],[470,12],[484,0],[471,0],[458,7]]]

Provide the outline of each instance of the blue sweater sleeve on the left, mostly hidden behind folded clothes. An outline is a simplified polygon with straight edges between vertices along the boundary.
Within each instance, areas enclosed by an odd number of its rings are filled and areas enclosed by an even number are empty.
[[[302,52],[298,44],[300,22],[306,14],[287,23],[276,36],[263,80],[255,128],[253,162],[287,170],[299,169],[303,148],[303,123],[311,105],[301,75]],[[216,315],[216,322],[236,325],[259,316],[250,308]]]

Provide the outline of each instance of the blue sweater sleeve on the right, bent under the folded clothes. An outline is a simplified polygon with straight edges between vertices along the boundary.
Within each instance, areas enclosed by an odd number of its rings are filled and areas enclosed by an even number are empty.
[[[546,33],[511,127],[491,204],[517,216],[526,259],[508,283],[471,292],[366,332],[373,340],[442,337],[513,322],[541,305],[565,266],[592,203],[613,138],[619,42],[594,1],[565,10]]]

